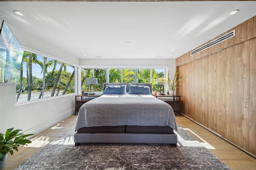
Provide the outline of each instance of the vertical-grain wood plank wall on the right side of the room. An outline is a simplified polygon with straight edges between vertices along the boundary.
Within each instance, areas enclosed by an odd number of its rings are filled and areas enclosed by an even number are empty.
[[[232,30],[234,37],[176,59],[177,94],[183,114],[256,155],[256,16],[220,36]]]

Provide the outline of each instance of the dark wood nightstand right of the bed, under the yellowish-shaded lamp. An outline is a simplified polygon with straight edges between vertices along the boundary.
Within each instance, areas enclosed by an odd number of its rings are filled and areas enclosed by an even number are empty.
[[[178,95],[154,95],[154,97],[168,103],[174,112],[180,114],[180,96]],[[181,114],[180,114],[181,116]]]

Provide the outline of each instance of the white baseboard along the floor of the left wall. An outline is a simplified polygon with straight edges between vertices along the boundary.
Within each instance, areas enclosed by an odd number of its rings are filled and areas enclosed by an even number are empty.
[[[50,119],[44,123],[41,123],[40,125],[37,125],[35,127],[32,127],[28,130],[22,131],[23,134],[38,134],[45,129],[51,127],[52,125],[55,125],[56,123],[59,123],[63,119],[66,119],[67,117],[70,117],[71,115],[74,115],[75,109],[72,109],[70,111],[67,111],[61,115],[58,115],[57,117],[54,117],[53,119]],[[34,135],[33,135],[34,136]],[[27,138],[32,138],[33,136],[29,136]]]

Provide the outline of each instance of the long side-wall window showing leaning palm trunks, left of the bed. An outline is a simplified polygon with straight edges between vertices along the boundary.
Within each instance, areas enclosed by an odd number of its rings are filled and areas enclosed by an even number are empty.
[[[75,67],[24,51],[16,83],[16,102],[75,92]]]

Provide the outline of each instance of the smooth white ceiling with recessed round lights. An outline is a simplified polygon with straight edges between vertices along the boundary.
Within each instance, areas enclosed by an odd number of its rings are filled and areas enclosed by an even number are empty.
[[[177,58],[253,16],[256,1],[0,2],[1,23],[77,58]]]

